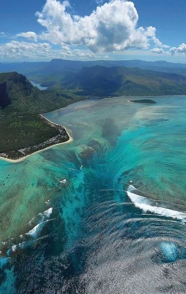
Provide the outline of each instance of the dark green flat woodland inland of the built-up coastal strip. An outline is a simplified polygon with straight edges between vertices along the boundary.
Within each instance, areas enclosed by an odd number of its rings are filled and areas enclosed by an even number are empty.
[[[0,153],[34,146],[58,134],[39,116],[1,117]]]

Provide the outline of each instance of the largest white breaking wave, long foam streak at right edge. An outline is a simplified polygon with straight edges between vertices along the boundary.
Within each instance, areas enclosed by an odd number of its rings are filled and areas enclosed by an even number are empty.
[[[185,213],[157,206],[157,202],[155,200],[135,194],[134,193],[135,190],[138,191],[134,186],[130,185],[127,190],[127,195],[129,196],[131,201],[134,203],[134,205],[140,208],[143,212],[145,213],[151,212],[153,214],[159,214],[166,217],[172,217],[174,219],[177,218],[177,219],[184,220],[186,222]]]

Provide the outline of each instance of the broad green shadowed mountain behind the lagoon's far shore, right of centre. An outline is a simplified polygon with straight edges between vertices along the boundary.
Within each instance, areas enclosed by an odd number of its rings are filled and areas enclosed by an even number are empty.
[[[79,95],[180,95],[186,94],[186,77],[140,68],[96,65],[70,74],[56,86]]]

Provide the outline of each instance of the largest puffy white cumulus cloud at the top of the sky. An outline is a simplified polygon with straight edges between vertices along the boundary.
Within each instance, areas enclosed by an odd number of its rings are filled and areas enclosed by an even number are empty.
[[[89,16],[70,15],[70,2],[46,0],[38,22],[46,31],[40,38],[53,44],[85,46],[93,53],[116,52],[130,48],[148,49],[156,38],[155,27],[138,27],[139,15],[131,1],[111,0]],[[160,42],[161,46],[163,44]]]

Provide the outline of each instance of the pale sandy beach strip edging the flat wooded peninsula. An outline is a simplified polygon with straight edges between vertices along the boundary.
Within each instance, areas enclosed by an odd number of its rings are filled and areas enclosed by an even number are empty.
[[[2,156],[0,156],[0,160],[7,161],[7,162],[9,162],[9,163],[18,163],[18,162],[22,162],[22,161],[25,160],[26,158],[28,158],[28,157],[30,157],[30,156],[36,154],[36,153],[39,153],[39,152],[45,151],[45,150],[47,150],[47,149],[50,149],[50,148],[55,147],[55,146],[58,146],[58,145],[71,143],[71,142],[73,141],[73,137],[70,136],[70,134],[69,134],[69,132],[67,131],[66,127],[61,126],[61,125],[56,124],[56,123],[53,123],[52,121],[50,121],[49,119],[47,119],[47,118],[46,118],[45,116],[43,116],[42,114],[40,114],[40,116],[41,116],[43,119],[47,120],[49,123],[53,124],[53,125],[56,125],[56,126],[59,126],[59,127],[63,127],[63,128],[65,129],[66,133],[68,134],[69,139],[68,139],[67,141],[65,141],[65,142],[61,142],[61,143],[57,143],[57,144],[53,144],[53,145],[47,146],[46,148],[43,148],[43,149],[37,150],[37,151],[35,151],[35,152],[33,152],[33,153],[30,153],[30,154],[28,154],[28,155],[26,155],[26,156],[23,156],[23,157],[19,158],[19,159],[15,159],[15,160],[14,160],[14,159],[9,159],[9,158],[6,158],[6,157],[2,157]],[[44,143],[45,143],[45,142],[44,142]]]

